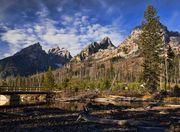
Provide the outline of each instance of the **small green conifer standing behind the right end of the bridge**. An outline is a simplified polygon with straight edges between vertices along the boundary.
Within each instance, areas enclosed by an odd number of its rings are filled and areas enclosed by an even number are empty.
[[[43,86],[50,89],[55,87],[55,80],[51,67],[49,67],[45,74]]]

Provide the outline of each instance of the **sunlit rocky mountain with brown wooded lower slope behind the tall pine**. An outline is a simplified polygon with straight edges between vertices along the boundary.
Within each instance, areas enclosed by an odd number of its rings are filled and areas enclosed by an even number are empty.
[[[100,43],[94,42],[55,74],[61,80],[65,75],[66,77],[101,79],[112,77],[111,73],[116,73],[118,80],[139,81],[142,72],[142,57],[138,47],[141,33],[140,26],[134,28],[118,47],[115,47],[108,37]],[[163,25],[162,33],[166,45],[171,46],[177,57],[180,56],[180,34],[168,31]]]

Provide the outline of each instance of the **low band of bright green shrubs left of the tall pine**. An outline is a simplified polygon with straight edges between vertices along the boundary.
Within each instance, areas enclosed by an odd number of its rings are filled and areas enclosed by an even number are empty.
[[[85,90],[85,89],[99,89],[106,90],[111,87],[112,81],[110,79],[99,79],[90,80],[88,78],[66,78],[61,81],[58,85],[61,89],[74,89],[75,91]],[[112,86],[112,91],[119,91],[124,93],[143,93],[145,90],[140,87],[140,83],[123,83],[116,81]]]

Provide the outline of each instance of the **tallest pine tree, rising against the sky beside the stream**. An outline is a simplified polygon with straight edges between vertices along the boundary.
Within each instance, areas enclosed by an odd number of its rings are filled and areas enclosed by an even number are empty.
[[[161,49],[163,46],[163,33],[159,17],[152,5],[144,13],[142,34],[140,36],[140,51],[143,57],[142,79],[146,88],[153,92],[158,88],[161,63]]]

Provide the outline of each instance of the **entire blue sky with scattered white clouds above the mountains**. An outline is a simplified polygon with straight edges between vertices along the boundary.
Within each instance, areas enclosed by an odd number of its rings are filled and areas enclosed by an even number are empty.
[[[36,42],[72,55],[106,36],[117,46],[149,4],[169,30],[180,32],[179,0],[0,0],[0,58]]]

